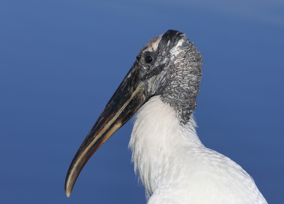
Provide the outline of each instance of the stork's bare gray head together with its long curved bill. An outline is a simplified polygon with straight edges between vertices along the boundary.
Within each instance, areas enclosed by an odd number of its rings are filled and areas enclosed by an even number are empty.
[[[147,62],[147,56],[153,60]],[[161,95],[186,124],[197,105],[201,68],[201,54],[184,33],[168,30],[146,43],[74,156],[65,180],[66,195],[93,153],[150,97]]]

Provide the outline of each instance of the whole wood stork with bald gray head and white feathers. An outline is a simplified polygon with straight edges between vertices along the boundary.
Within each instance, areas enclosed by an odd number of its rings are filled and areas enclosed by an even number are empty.
[[[267,203],[241,166],[197,136],[192,113],[201,68],[184,33],[168,30],[146,43],[77,151],[66,195],[91,155],[139,110],[129,146],[148,204]]]

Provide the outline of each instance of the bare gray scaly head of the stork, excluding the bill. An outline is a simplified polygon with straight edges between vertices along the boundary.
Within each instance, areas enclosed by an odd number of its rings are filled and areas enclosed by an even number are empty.
[[[176,30],[168,30],[163,34],[156,50],[145,52],[159,37],[144,45],[137,59],[147,55],[153,57],[151,64],[141,60],[144,66],[149,66],[149,72],[157,73],[157,84],[151,89],[155,95],[161,95],[162,101],[170,104],[181,116],[181,123],[186,124],[197,105],[196,95],[199,93],[202,78],[202,57],[194,43],[188,41],[184,33]]]

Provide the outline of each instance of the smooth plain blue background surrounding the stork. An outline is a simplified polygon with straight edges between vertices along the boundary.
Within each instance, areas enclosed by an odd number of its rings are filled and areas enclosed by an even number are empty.
[[[0,3],[1,203],[146,203],[129,121],[91,157],[70,198],[76,151],[151,38],[175,29],[203,58],[201,141],[283,202],[284,1]]]

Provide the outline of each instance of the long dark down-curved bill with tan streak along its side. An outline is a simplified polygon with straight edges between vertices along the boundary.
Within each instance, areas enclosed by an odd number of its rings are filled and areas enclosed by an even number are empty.
[[[67,197],[93,153],[149,99],[142,78],[135,61],[74,156],[65,180]]]

